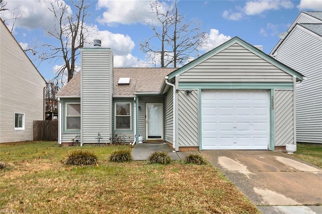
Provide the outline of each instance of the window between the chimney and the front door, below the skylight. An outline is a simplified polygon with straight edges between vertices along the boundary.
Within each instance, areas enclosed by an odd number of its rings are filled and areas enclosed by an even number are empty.
[[[115,103],[115,129],[131,130],[132,128],[131,102]]]

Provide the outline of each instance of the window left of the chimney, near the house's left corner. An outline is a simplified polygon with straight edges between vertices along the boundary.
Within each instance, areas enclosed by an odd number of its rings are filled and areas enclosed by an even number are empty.
[[[66,103],[65,130],[81,130],[81,104]]]

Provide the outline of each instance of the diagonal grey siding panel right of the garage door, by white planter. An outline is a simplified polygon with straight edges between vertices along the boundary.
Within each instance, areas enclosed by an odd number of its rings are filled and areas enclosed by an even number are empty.
[[[275,146],[294,143],[293,90],[275,90]]]

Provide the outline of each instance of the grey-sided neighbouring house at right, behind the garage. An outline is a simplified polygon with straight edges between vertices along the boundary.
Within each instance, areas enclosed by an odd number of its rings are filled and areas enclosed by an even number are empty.
[[[301,12],[270,55],[306,77],[296,84],[297,142],[322,143],[322,12]]]

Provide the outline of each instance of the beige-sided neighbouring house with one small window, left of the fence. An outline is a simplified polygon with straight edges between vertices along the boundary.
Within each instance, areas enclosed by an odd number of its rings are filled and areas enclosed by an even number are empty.
[[[46,81],[0,19],[0,143],[32,141]]]

